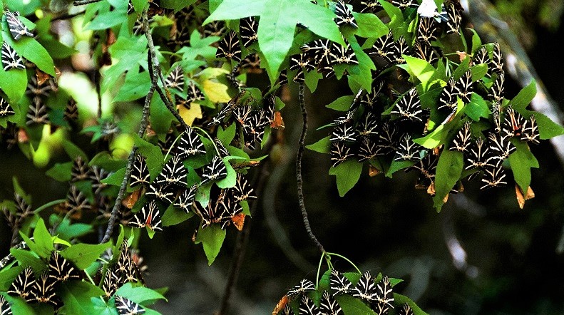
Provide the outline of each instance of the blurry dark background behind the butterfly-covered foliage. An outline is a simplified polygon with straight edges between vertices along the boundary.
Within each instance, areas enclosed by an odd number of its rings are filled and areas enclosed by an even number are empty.
[[[511,7],[511,1],[498,2]],[[521,16],[527,36],[523,43],[550,97],[563,109],[563,28],[555,21],[558,27],[552,29],[540,24],[535,12]],[[511,79],[506,86],[508,98],[521,88]],[[251,202],[256,209],[246,222],[251,224],[250,239],[231,314],[270,314],[300,279],[316,277],[319,254],[307,237],[297,202],[294,158],[301,115],[295,84],[289,93],[292,98],[282,110],[286,145],[273,151],[265,167],[270,175],[265,189]],[[321,82],[314,95],[307,93],[307,144],[324,137],[326,131],[316,128],[337,115],[324,105],[349,93],[344,80]],[[414,190],[414,173],[369,177],[365,168],[359,183],[339,197],[334,177],[327,173],[329,156],[306,150],[309,222],[327,251],[342,254],[363,271],[404,279],[396,289],[429,314],[564,314],[564,257],[558,251],[564,227],[563,166],[550,142],[531,150],[540,169],[532,170],[535,198],[524,209],[519,209],[512,185],[481,192],[478,182],[469,182],[440,213],[431,197]],[[36,169],[19,150],[2,148],[0,161],[0,200],[11,198],[14,175],[32,193],[34,207],[66,194],[66,186],[46,177],[46,169]],[[251,170],[248,178],[257,173]],[[153,239],[143,234],[140,240],[148,286],[168,287],[168,303],[155,306],[163,314],[212,314],[219,308],[237,231],[228,229],[219,257],[208,267],[201,245],[191,240],[195,221],[169,227]],[[0,224],[0,256],[8,252],[10,235]],[[280,246],[285,241],[288,246]],[[453,262],[449,244],[461,245],[463,263]],[[354,270],[344,259],[332,262],[342,271]]]

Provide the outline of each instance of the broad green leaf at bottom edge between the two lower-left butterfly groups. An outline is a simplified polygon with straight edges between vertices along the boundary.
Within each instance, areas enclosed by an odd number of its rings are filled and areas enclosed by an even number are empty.
[[[98,314],[91,298],[103,296],[104,291],[90,282],[70,280],[59,284],[58,294],[63,300],[63,314]]]

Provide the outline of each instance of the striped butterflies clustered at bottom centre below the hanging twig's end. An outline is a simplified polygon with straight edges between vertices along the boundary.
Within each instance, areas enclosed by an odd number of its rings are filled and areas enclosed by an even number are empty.
[[[390,309],[397,309],[396,314],[413,315],[414,312],[408,304],[396,305],[391,282],[388,277],[381,277],[376,284],[376,279],[366,271],[360,277],[356,285],[344,276],[341,272],[332,269],[329,278],[329,289],[324,291],[319,306],[309,298],[308,292],[316,291],[315,285],[308,279],[302,279],[299,284],[287,292],[288,302],[278,314],[294,314],[291,302],[299,301],[299,315],[342,315],[344,314],[341,306],[335,300],[336,296],[347,294],[363,301],[376,314],[388,314]]]

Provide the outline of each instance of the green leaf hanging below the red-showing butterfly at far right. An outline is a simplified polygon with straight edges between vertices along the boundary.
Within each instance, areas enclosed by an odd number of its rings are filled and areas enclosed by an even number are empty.
[[[516,138],[511,139],[511,143],[517,150],[509,155],[509,165],[511,165],[515,182],[523,192],[526,192],[530,186],[530,168],[538,168],[538,160],[530,152],[527,143]]]

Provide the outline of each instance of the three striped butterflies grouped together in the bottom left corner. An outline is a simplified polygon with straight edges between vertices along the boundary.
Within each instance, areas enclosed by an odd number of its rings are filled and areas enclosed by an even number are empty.
[[[8,294],[21,296],[28,303],[51,304],[54,309],[63,306],[56,291],[61,282],[83,279],[84,272],[64,259],[57,251],[51,253],[48,270],[36,276],[34,269],[26,267],[11,283]]]

